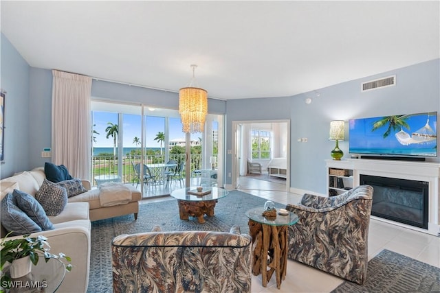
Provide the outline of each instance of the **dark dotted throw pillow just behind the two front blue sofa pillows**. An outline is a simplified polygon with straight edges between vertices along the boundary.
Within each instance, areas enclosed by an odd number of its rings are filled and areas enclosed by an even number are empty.
[[[67,191],[64,187],[56,185],[45,179],[39,191],[35,194],[46,212],[46,215],[59,215],[67,204]]]

